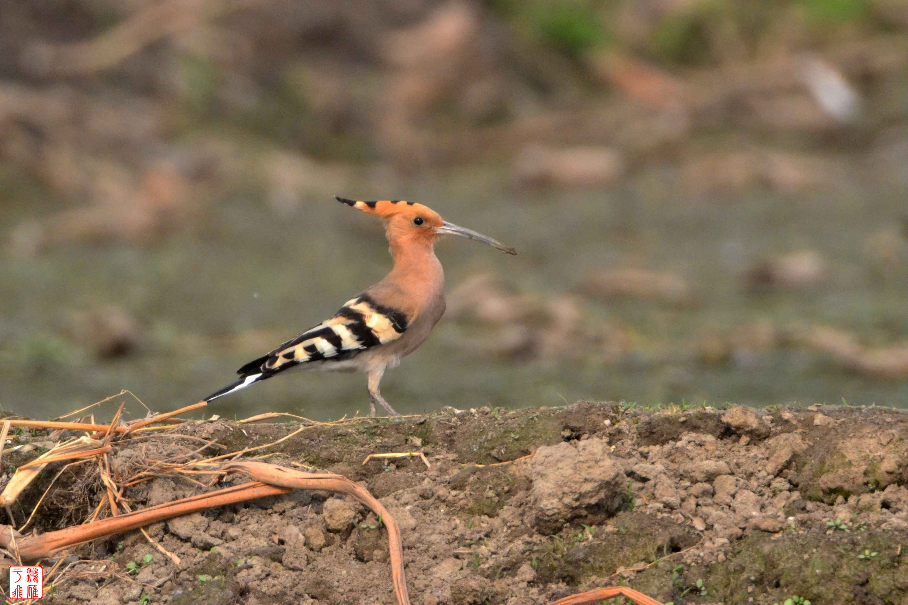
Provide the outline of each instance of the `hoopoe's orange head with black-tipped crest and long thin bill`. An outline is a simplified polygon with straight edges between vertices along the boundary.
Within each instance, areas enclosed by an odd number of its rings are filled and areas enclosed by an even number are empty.
[[[450,234],[489,244],[489,246],[508,254],[517,254],[513,248],[508,248],[508,246],[495,239],[442,220],[438,212],[415,201],[361,201],[347,200],[338,196],[334,197],[341,203],[384,220],[385,231],[392,247],[394,245],[431,246],[439,235]]]

